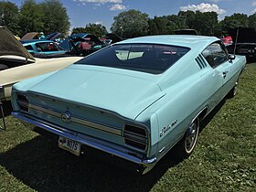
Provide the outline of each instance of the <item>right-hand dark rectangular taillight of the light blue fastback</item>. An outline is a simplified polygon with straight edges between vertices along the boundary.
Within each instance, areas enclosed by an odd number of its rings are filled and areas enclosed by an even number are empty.
[[[123,130],[124,143],[134,148],[145,151],[147,146],[147,134],[144,128],[133,125],[125,125]]]

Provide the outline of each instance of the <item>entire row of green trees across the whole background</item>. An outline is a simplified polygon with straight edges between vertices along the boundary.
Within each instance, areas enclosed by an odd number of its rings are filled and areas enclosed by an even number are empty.
[[[69,31],[70,23],[67,9],[59,0],[24,0],[20,7],[8,1],[0,2],[0,26],[8,27],[15,35],[23,36],[27,32],[43,31],[45,34]],[[256,28],[256,14],[247,16],[235,13],[218,19],[216,12],[180,11],[177,15],[154,16],[138,10],[123,11],[113,17],[112,33],[123,37],[174,34],[177,29],[192,28],[199,35],[220,37],[228,35],[229,27]],[[101,24],[87,24],[75,27],[72,33],[87,32],[97,37],[107,33]]]

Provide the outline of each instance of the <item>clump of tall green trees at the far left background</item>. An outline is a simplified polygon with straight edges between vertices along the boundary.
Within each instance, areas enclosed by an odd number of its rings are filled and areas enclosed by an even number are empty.
[[[16,4],[0,2],[0,26],[8,27],[13,34],[24,36],[28,32],[45,34],[53,32],[66,33],[70,23],[67,9],[59,0],[25,0],[18,7]]]

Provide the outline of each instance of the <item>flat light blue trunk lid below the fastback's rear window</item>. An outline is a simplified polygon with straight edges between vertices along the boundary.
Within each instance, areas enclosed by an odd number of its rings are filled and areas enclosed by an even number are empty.
[[[118,70],[72,65],[38,82],[29,91],[80,103],[135,119],[164,93],[155,81]]]

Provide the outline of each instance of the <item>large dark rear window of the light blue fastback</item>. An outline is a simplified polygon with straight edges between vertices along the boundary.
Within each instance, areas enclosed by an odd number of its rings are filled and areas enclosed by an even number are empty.
[[[182,58],[189,48],[155,44],[121,44],[104,48],[76,64],[131,69],[160,74]]]

